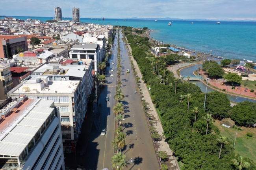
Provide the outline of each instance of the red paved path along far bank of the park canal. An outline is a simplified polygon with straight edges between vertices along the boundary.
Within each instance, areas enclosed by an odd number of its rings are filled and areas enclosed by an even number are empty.
[[[200,70],[200,75],[204,77],[204,79],[207,78],[207,75],[204,75],[205,71],[202,71]],[[235,94],[238,94],[238,95],[244,95],[244,96],[247,96],[247,97],[253,97],[255,98],[256,95],[253,93],[253,92],[250,92],[250,89],[248,88],[247,92],[244,91],[246,87],[243,87],[241,86],[240,89],[237,89],[238,87],[236,87],[234,90],[231,89],[232,86],[226,86],[224,84],[221,84],[223,81],[222,80],[210,80],[209,83],[212,85],[212,86],[215,86],[217,88],[219,88],[220,90],[223,90],[223,89],[226,89],[226,91],[228,92],[232,92],[232,93],[235,93]]]

